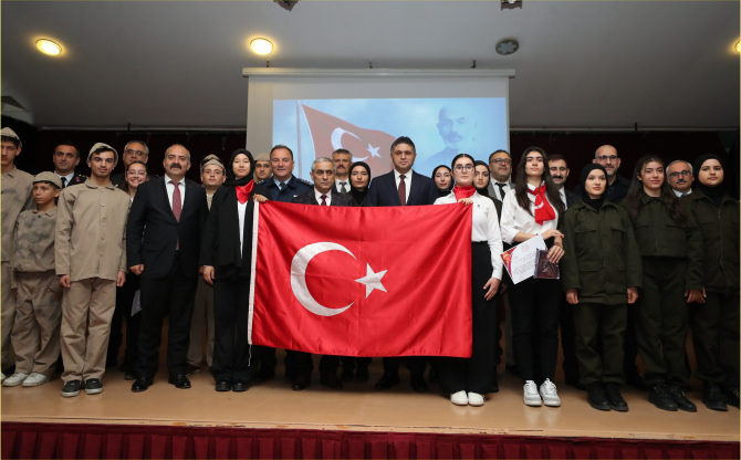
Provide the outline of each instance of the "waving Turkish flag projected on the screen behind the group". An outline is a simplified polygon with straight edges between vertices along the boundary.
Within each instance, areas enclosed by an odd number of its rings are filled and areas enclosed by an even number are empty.
[[[392,170],[392,144],[396,137],[383,130],[364,129],[315,108],[301,104],[314,142],[314,155],[331,157],[337,148],[353,154],[353,163],[365,161],[372,171]]]

